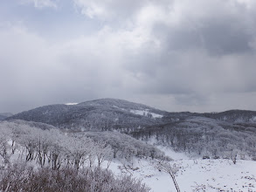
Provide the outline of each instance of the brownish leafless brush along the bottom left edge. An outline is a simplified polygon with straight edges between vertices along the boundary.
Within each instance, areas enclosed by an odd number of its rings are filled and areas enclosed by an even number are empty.
[[[111,171],[101,168],[33,170],[14,165],[1,172],[0,191],[148,192],[149,188],[131,176],[115,177]]]

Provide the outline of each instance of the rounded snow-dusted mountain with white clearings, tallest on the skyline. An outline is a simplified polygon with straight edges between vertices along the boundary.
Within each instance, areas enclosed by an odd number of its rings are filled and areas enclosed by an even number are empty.
[[[162,122],[163,112],[121,99],[98,99],[77,105],[41,106],[8,120],[32,120],[74,130],[131,131]]]

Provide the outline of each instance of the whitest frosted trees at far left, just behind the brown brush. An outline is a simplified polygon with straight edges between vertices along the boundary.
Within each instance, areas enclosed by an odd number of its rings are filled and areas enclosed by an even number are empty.
[[[95,160],[100,167],[113,155],[112,148],[103,142],[95,143],[87,137],[78,140],[57,129],[42,130],[25,124],[3,122],[0,131],[0,155],[5,163],[13,154],[18,154],[18,160],[35,161],[42,168],[66,166],[78,169],[85,163],[93,166]]]

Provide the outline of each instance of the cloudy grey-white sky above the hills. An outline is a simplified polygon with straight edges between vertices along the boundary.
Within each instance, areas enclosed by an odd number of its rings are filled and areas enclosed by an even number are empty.
[[[256,1],[3,0],[0,82],[0,113],[101,98],[256,110]]]

